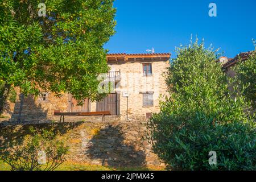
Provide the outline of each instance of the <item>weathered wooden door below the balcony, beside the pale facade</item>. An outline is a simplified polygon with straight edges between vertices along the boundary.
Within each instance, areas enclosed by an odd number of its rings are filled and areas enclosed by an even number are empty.
[[[112,115],[120,115],[120,94],[109,94],[96,103],[96,111],[110,111]]]

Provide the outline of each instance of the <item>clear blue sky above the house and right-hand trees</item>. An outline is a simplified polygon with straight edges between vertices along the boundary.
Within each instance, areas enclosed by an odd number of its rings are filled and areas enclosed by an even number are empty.
[[[209,3],[217,17],[208,15]],[[256,0],[115,0],[117,33],[105,45],[109,53],[171,52],[188,44],[191,34],[205,39],[224,56],[254,49]]]

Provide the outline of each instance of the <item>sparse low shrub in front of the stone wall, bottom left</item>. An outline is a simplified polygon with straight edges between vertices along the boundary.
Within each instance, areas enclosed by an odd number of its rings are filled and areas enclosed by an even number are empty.
[[[52,131],[40,133],[30,127],[32,136],[11,142],[2,148],[0,158],[13,171],[52,171],[65,161],[68,147]]]

